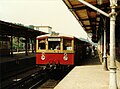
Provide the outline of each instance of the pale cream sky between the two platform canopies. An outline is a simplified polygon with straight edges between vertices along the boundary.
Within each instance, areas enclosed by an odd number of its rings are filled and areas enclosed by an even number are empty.
[[[50,26],[59,33],[87,38],[62,0],[0,0],[0,20],[26,26]]]

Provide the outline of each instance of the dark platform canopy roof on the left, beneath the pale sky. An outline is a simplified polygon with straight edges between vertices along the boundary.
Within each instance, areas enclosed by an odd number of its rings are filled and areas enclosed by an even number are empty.
[[[35,38],[36,36],[43,34],[46,33],[0,20],[0,35]]]

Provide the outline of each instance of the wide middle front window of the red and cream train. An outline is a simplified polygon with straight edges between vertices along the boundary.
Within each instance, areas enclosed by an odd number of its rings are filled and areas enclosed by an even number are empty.
[[[48,41],[49,50],[60,50],[60,41]]]

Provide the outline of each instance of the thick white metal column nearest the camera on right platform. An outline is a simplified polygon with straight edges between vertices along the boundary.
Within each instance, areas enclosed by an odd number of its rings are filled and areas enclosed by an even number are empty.
[[[116,77],[116,55],[115,55],[115,20],[116,12],[115,7],[117,2],[115,0],[110,0],[111,13],[110,13],[110,81],[109,89],[118,89],[117,87],[117,77]]]

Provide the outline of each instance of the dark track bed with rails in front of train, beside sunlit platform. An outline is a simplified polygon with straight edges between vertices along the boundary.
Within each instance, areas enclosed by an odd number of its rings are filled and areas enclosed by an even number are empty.
[[[3,81],[1,89],[39,89],[42,84],[52,89],[69,71],[36,66],[34,69]]]

